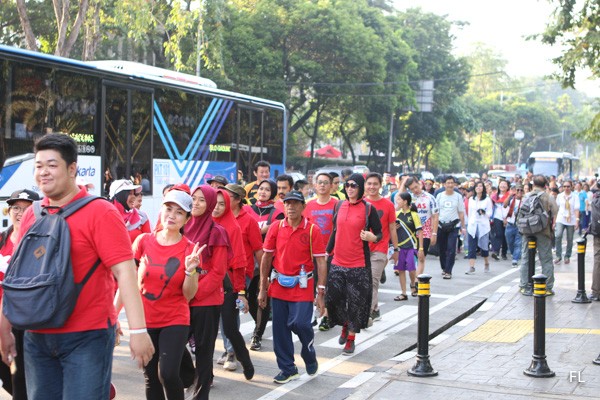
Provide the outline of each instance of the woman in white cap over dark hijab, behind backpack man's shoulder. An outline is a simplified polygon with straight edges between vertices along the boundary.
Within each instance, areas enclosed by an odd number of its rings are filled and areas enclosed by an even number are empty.
[[[110,185],[109,200],[123,217],[131,243],[142,233],[150,233],[150,222],[134,207],[136,196],[141,195],[142,187],[127,179],[116,180]]]

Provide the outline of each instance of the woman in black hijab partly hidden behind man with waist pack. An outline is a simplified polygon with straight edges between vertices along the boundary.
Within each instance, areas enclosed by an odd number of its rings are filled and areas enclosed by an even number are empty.
[[[258,227],[260,228],[263,240],[273,221],[284,218],[283,213],[275,208],[275,196],[277,196],[277,184],[275,182],[270,179],[265,179],[258,184],[258,191],[256,192],[257,200],[251,207],[253,211],[251,214],[256,222],[258,222]],[[262,335],[265,333],[269,314],[271,313],[270,299],[267,299],[267,306],[265,308],[258,306],[257,298],[259,281],[260,274],[257,271],[256,275],[248,285],[250,314],[256,322],[254,333],[252,334],[252,341],[250,343],[250,350],[254,351],[258,351],[262,347]]]

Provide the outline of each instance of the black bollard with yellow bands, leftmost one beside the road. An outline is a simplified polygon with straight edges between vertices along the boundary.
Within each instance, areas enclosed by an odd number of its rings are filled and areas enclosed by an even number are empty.
[[[421,274],[417,277],[419,295],[419,325],[417,334],[417,362],[408,370],[412,376],[436,376],[437,371],[429,362],[429,296],[431,275]]]

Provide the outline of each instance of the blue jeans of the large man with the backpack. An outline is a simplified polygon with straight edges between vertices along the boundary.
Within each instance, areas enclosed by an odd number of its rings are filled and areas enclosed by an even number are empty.
[[[115,328],[43,334],[25,332],[29,400],[106,400]]]

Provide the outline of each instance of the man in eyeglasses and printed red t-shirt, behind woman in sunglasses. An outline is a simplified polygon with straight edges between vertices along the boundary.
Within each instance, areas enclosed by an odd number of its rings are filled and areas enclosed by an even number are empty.
[[[304,209],[304,216],[308,218],[308,221],[317,225],[321,230],[321,237],[325,244],[329,243],[329,237],[333,228],[333,212],[338,202],[337,199],[331,196],[331,181],[331,175],[325,172],[321,172],[315,177],[317,196],[309,199]],[[331,265],[331,257],[327,257],[328,268],[329,265]],[[329,330],[327,310],[323,314],[319,330]]]

